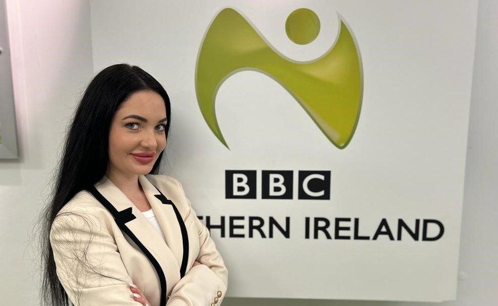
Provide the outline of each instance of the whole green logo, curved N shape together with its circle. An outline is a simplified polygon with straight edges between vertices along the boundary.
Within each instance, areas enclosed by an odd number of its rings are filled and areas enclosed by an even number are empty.
[[[339,35],[326,54],[297,62],[280,54],[236,10],[216,15],[197,57],[195,91],[204,120],[223,145],[229,148],[216,120],[216,93],[231,75],[254,70],[282,85],[336,147],[347,146],[360,116],[363,77],[353,35],[340,16],[339,21]],[[307,44],[318,36],[320,20],[309,9],[297,9],[287,17],[285,31],[294,43]]]

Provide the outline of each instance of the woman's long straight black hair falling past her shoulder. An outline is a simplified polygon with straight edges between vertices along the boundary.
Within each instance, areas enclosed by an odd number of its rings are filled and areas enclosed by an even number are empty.
[[[112,118],[119,105],[138,90],[153,90],[163,98],[167,138],[171,124],[168,94],[152,75],[138,66],[116,64],[98,72],[74,112],[65,135],[60,161],[54,172],[51,196],[39,216],[42,306],[66,306],[69,302],[56,273],[54,252],[49,240],[54,219],[74,195],[93,186],[106,173]],[[149,174],[158,173],[163,152]]]

